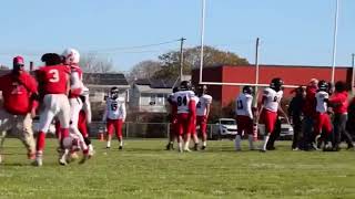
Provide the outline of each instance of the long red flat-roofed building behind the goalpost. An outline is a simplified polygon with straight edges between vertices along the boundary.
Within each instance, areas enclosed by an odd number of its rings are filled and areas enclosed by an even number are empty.
[[[335,69],[335,81],[352,82],[352,67]],[[255,65],[220,65],[203,69],[203,82],[255,83]],[[300,65],[260,65],[258,83],[268,84],[273,77],[281,77],[287,85],[306,85],[311,78],[332,78],[332,67]],[[200,81],[200,69],[192,71],[192,83]],[[223,106],[234,101],[243,86],[209,85],[209,93]],[[284,96],[290,97],[293,88],[285,88]]]

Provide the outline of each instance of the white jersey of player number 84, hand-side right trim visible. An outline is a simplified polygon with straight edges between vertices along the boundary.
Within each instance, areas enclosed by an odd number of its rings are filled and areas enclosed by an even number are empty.
[[[190,101],[195,101],[195,93],[193,91],[179,91],[174,93],[173,101],[178,105],[178,114],[190,113]]]

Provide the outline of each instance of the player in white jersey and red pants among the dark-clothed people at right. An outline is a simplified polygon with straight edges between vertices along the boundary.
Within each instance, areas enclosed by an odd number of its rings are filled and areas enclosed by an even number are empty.
[[[316,117],[314,132],[316,135],[315,143],[317,148],[321,147],[321,144],[325,142],[324,150],[333,148],[333,126],[331,117],[327,113],[328,103],[329,103],[329,84],[322,80],[318,82],[318,91],[315,94],[316,98]],[[323,129],[325,132],[323,132]]]

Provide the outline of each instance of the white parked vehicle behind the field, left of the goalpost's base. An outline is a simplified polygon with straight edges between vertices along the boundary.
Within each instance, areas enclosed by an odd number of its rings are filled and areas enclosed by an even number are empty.
[[[212,138],[222,139],[231,138],[233,139],[236,135],[236,121],[233,118],[220,118],[215,125],[212,134]]]

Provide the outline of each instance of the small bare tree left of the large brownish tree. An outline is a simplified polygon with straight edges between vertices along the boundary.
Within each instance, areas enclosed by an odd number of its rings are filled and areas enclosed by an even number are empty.
[[[160,71],[162,64],[156,61],[148,60],[135,64],[128,75],[129,82],[138,78],[151,78],[153,75]]]

